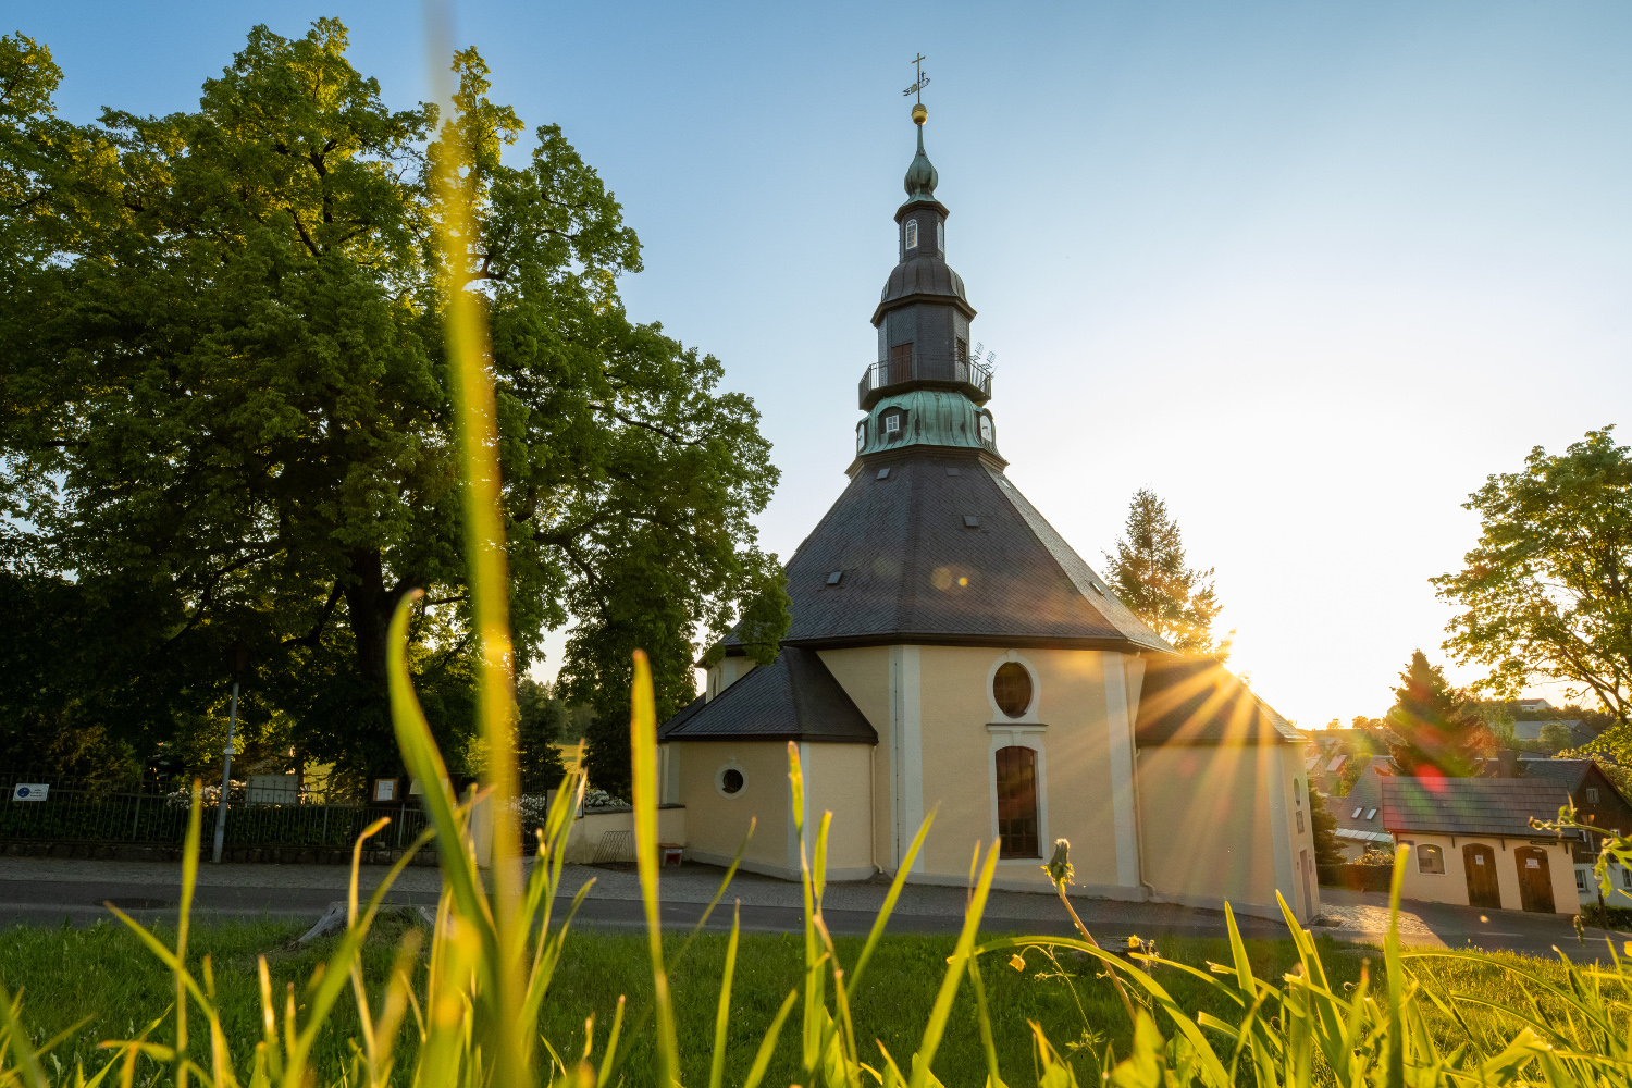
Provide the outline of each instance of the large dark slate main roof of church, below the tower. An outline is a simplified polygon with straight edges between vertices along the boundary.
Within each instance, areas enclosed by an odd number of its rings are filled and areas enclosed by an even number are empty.
[[[837,584],[829,582],[834,571],[842,573]],[[1013,483],[973,452],[916,447],[865,458],[787,574],[793,625],[783,644],[1170,652]],[[734,644],[733,635],[726,646]]]

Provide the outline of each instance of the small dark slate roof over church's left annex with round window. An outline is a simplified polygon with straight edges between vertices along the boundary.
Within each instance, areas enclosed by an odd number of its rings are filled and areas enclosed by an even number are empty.
[[[769,666],[687,703],[658,741],[839,741],[878,744],[878,734],[816,651],[783,646]]]

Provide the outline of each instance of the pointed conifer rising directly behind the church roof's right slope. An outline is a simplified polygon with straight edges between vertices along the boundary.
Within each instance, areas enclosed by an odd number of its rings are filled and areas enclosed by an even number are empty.
[[[1105,581],[1121,602],[1173,649],[1196,657],[1229,657],[1235,631],[1213,638],[1213,620],[1222,607],[1213,589],[1213,568],[1185,566],[1178,522],[1149,488],[1134,493],[1116,555],[1106,551],[1105,564]]]

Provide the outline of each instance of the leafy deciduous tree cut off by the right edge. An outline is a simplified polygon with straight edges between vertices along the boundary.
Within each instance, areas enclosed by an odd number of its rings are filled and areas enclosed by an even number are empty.
[[[1614,427],[1562,455],[1536,447],[1524,470],[1469,496],[1479,546],[1431,579],[1464,608],[1444,648],[1492,667],[1479,690],[1506,698],[1537,680],[1593,692],[1627,726],[1632,714],[1632,450]]]

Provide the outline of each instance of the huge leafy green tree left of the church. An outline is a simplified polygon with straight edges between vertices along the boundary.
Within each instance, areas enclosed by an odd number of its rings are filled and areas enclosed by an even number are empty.
[[[519,667],[573,625],[573,701],[625,706],[645,648],[669,713],[694,636],[780,594],[749,520],[777,481],[752,403],[628,318],[640,243],[561,130],[506,165],[521,119],[473,51],[454,70],[450,116],[392,111],[338,21],[258,26],[196,111],[77,126],[49,52],[0,41],[5,555],[93,610],[137,602],[114,677],[150,703],[137,747],[219,698],[243,639],[297,759],[390,763],[385,626],[413,587],[416,680],[457,747],[470,621],[428,183],[455,150]]]

